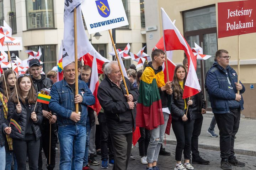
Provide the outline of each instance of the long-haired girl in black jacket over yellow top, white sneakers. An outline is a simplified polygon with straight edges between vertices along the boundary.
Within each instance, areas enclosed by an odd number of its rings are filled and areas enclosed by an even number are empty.
[[[174,78],[172,81],[171,95],[171,115],[172,115],[172,129],[176,136],[177,145],[175,151],[176,166],[175,170],[193,170],[190,162],[191,152],[191,137],[193,132],[193,115],[191,106],[193,101],[182,99],[183,90],[186,82],[186,69],[182,65],[176,66],[174,70]],[[190,107],[188,107],[190,106]],[[187,115],[186,111],[188,109]],[[184,165],[181,163],[182,151],[184,150]]]

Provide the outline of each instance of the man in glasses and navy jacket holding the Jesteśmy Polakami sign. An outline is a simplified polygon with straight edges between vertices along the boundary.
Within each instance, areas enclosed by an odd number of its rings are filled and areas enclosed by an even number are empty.
[[[205,85],[220,131],[220,166],[225,170],[231,170],[231,165],[245,166],[234,155],[235,135],[239,128],[241,110],[244,109],[244,100],[240,94],[245,92],[245,87],[238,82],[238,75],[229,66],[229,59],[228,51],[216,52]]]

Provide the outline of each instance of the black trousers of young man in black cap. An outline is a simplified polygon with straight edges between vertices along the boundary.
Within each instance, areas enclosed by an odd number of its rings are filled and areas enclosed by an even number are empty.
[[[49,145],[50,145],[50,125],[44,124],[41,128],[42,137],[40,138],[40,150],[38,159],[38,169],[41,170],[43,166],[42,161],[42,148],[46,157],[47,169],[53,170],[55,167],[55,156],[56,156],[56,143],[57,143],[57,126],[56,123],[52,124],[51,127],[51,152],[50,152],[50,164],[49,164]]]

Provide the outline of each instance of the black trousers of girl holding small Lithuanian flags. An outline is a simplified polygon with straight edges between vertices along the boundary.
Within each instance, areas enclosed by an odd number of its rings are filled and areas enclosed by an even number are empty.
[[[12,145],[17,159],[18,170],[26,170],[27,152],[29,169],[38,170],[39,140],[23,141],[13,139]]]

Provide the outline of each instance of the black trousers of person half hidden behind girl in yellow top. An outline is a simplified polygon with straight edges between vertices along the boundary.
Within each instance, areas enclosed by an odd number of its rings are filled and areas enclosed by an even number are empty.
[[[193,128],[192,138],[191,138],[191,152],[192,152],[193,158],[199,157],[198,136],[201,133],[202,124],[203,124],[203,117],[194,119],[194,128]]]

